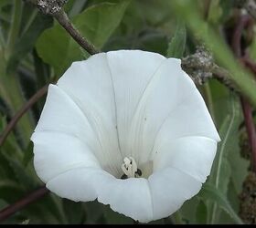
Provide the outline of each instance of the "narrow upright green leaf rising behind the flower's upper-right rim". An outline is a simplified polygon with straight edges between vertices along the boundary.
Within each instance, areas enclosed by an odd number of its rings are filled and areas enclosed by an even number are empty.
[[[176,26],[176,32],[167,50],[167,57],[183,57],[186,47],[187,31],[184,22],[179,21]]]

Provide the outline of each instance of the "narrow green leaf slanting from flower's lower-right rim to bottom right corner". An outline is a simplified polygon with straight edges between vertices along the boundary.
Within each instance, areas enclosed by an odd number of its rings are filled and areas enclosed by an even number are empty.
[[[238,224],[243,224],[240,217],[231,207],[229,201],[226,196],[220,192],[214,185],[205,184],[202,188],[202,191],[198,195],[204,201],[213,201],[216,202],[217,205],[222,208],[225,212],[229,213],[229,216],[233,219],[234,222]]]

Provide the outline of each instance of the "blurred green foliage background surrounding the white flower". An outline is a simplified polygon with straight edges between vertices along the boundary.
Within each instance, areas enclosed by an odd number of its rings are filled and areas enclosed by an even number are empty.
[[[103,51],[143,49],[167,57],[193,54],[208,46],[232,80],[256,104],[255,82],[239,67],[220,31],[231,23],[232,0],[69,0],[65,10],[81,34]],[[256,57],[255,38],[249,47]],[[0,1],[0,132],[38,88],[53,82],[76,60],[89,57],[35,6],[21,0]],[[255,59],[256,60],[256,59]],[[201,86],[222,139],[207,183],[169,218],[152,223],[242,223],[242,182],[249,161],[240,156],[244,131],[238,95],[215,79]],[[20,119],[0,148],[0,209],[42,185],[33,167],[29,138],[44,100]],[[16,212],[4,223],[133,223],[98,202],[70,202],[53,193]]]

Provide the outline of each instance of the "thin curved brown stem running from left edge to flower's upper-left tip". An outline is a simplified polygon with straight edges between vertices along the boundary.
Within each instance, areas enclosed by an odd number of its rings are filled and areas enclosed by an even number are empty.
[[[5,130],[0,135],[0,147],[4,144],[9,133],[16,127],[16,123],[22,116],[30,109],[39,98],[42,98],[48,91],[48,85],[40,88],[37,93],[30,99],[27,100],[27,103],[16,113],[16,115],[11,119],[11,121],[5,127]]]

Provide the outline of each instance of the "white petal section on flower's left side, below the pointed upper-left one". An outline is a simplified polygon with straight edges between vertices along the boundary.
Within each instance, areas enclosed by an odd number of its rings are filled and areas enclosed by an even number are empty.
[[[46,130],[35,132],[32,140],[35,169],[45,182],[78,167],[101,167],[88,146],[75,136]]]

